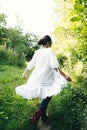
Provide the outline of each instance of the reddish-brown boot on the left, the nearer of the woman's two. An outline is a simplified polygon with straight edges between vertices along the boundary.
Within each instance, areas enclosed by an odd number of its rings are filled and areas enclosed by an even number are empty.
[[[42,115],[42,108],[39,107],[39,108],[34,112],[33,117],[32,117],[32,123],[33,123],[34,128],[36,128],[37,122],[38,122],[38,120],[40,119],[41,115]]]

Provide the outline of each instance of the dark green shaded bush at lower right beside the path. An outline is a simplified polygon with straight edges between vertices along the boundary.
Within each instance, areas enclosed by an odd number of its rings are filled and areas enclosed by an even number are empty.
[[[58,96],[53,97],[49,106],[52,129],[82,130],[86,126],[87,87],[69,84]],[[54,127],[55,126],[55,127]]]

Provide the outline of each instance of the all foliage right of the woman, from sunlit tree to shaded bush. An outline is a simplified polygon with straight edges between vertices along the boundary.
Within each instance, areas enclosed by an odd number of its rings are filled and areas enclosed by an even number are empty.
[[[58,2],[56,0],[57,5]],[[62,19],[53,32],[56,39],[53,49],[60,66],[72,77],[72,83],[55,96],[49,106],[51,118],[55,120],[52,129],[86,130],[87,1],[66,0],[60,3],[61,10],[56,10],[56,15],[62,12]]]

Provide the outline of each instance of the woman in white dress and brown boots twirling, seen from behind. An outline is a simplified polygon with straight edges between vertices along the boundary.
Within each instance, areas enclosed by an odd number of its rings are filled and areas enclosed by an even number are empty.
[[[52,96],[57,95],[67,85],[67,81],[71,80],[59,69],[57,58],[51,50],[50,36],[44,36],[38,41],[38,44],[42,48],[35,52],[23,77],[27,79],[29,70],[35,67],[33,72],[26,84],[16,88],[16,93],[24,98],[39,97],[43,99],[32,117],[34,127],[36,127],[40,117],[43,121],[47,120],[46,110]]]

